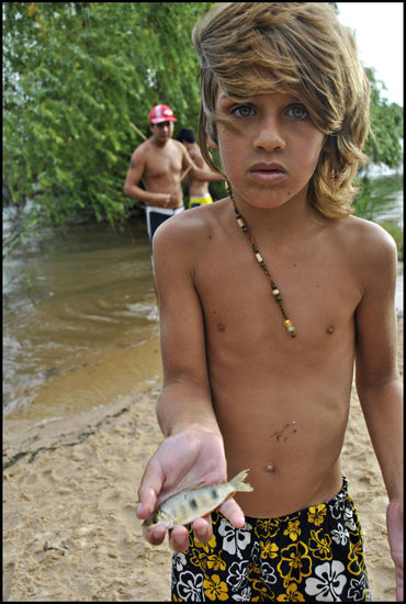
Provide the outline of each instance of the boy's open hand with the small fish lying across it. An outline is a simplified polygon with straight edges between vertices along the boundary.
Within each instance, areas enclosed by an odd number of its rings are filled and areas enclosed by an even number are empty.
[[[163,440],[148,461],[138,490],[137,516],[146,519],[162,501],[182,489],[223,480],[227,480],[227,468],[222,437],[200,426],[188,427]],[[233,499],[225,501],[218,511],[236,528],[244,526],[243,511]],[[167,529],[157,525],[144,527],[143,532],[151,545],[159,545]],[[193,533],[200,541],[207,541],[212,537],[210,516],[196,518]],[[188,528],[176,526],[169,543],[174,551],[187,550]]]

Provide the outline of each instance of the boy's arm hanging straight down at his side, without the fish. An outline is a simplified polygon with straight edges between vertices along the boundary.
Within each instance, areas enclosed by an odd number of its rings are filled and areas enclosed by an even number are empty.
[[[396,597],[403,601],[403,396],[396,362],[396,247],[380,232],[374,244],[357,312],[356,381],[390,499],[387,534],[396,568]]]

